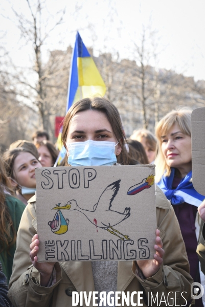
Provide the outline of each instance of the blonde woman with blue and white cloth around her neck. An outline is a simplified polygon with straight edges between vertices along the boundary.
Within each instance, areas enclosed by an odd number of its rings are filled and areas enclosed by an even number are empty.
[[[190,264],[190,274],[200,282],[199,261],[196,254],[199,232],[197,207],[204,196],[192,184],[190,109],[172,111],[158,122],[156,137],[159,142],[155,159],[156,182],[173,205],[179,222]],[[204,279],[203,274],[201,275]],[[202,306],[197,299],[196,306]],[[205,305],[205,304],[204,304]]]

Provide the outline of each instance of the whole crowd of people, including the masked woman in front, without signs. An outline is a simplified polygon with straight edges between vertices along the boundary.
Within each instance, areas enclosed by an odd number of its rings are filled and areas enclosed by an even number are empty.
[[[157,229],[149,260],[38,262],[35,168],[53,167],[59,152],[46,131],[10,145],[0,157],[0,307],[72,306],[69,287],[87,296],[95,290],[143,291],[144,306],[148,292],[169,295],[175,305],[205,306],[203,296],[191,298],[193,281],[205,286],[205,202],[192,184],[191,113],[171,111],[155,135],[140,129],[129,139],[116,107],[104,98],[82,99],[64,118],[62,166],[155,164]],[[183,295],[176,298],[176,292]]]

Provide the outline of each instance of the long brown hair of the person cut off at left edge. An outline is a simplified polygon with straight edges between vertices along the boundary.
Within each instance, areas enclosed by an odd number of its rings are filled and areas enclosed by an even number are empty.
[[[16,241],[16,232],[13,221],[6,205],[6,193],[14,195],[9,179],[7,178],[4,162],[0,156],[0,253],[9,250]]]

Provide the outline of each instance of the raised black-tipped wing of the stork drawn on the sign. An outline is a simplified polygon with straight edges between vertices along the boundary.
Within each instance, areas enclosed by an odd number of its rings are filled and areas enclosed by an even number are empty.
[[[97,206],[96,207],[94,206],[95,209],[99,206],[100,209],[110,210],[112,206],[111,203],[119,191],[120,182],[121,179],[111,183],[106,187],[106,189],[102,192],[98,203],[96,204]]]

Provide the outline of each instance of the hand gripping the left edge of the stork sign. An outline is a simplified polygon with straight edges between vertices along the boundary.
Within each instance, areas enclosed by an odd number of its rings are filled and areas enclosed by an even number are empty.
[[[38,262],[39,243],[38,235],[35,234],[30,245],[30,258],[34,268],[40,273],[41,286],[46,287],[53,272],[55,262]]]

